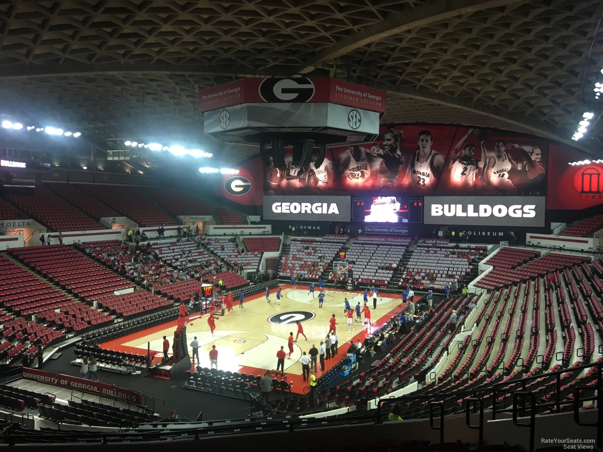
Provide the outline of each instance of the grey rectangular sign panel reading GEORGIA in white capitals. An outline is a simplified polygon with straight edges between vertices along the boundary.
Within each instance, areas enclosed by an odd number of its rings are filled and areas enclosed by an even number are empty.
[[[264,219],[350,221],[350,196],[264,196]]]

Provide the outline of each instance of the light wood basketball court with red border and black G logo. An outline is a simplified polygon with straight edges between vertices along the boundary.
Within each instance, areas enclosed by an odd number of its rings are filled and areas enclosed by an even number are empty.
[[[333,314],[338,322],[339,353],[336,359],[325,361],[325,371],[343,358],[351,339],[354,342],[356,339],[362,342],[364,337],[370,334],[363,330],[362,323],[356,321],[353,322],[354,330],[349,330],[347,319],[344,317],[344,300],[346,298],[349,300],[352,309],[358,303],[362,308],[363,292],[327,288],[323,307],[319,308],[318,290],[315,290],[315,297],[312,298],[312,295],[308,293],[308,286],[297,286],[297,289],[291,289],[291,285],[284,284],[281,287],[280,305],[276,304],[276,289],[271,290],[270,303],[267,303],[265,293],[262,292],[248,297],[242,309],[239,308],[235,296],[233,310],[226,311],[224,316],[216,316],[216,330],[213,336],[207,325],[207,315],[201,318],[199,313],[191,314],[186,326],[187,342],[190,344],[197,336],[201,366],[210,367],[208,354],[212,345],[215,345],[218,350],[218,369],[254,375],[263,374],[265,370],[275,369],[276,352],[282,346],[288,353],[287,338],[290,332],[294,334],[294,337],[297,336],[295,322],[300,321],[308,340],[306,341],[300,334],[298,342],[294,343],[291,359],[285,359],[285,372],[288,374],[287,380],[294,381],[292,390],[303,393],[303,388],[307,386],[307,383],[304,383],[301,378],[299,359],[303,351],[308,352],[312,348],[312,344],[320,349],[320,341],[324,341],[329,332],[329,319]],[[371,321],[374,327],[388,321],[391,316],[402,310],[400,295],[388,293],[382,298],[377,298],[377,309],[373,309],[371,295],[371,293],[368,294],[368,306],[371,310]],[[354,319],[356,319],[356,314],[354,314]],[[362,322],[364,322],[364,316],[362,316]],[[104,342],[101,347],[146,354],[148,343],[150,349],[157,352],[157,361],[163,356],[163,336],[168,337],[171,347],[175,327],[176,321],[171,321]],[[192,359],[190,347],[189,354]],[[320,377],[321,373],[319,364],[317,377]]]

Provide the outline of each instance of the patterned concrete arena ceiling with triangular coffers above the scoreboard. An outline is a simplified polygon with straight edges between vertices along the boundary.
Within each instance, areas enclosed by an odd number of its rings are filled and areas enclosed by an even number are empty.
[[[0,0],[0,113],[101,147],[158,130],[198,145],[200,89],[303,74],[387,90],[382,122],[576,144],[582,113],[603,111],[602,14],[601,0]],[[602,130],[577,145],[601,155]]]

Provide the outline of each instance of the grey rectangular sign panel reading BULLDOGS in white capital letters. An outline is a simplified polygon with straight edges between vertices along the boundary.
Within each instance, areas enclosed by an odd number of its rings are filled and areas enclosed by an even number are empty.
[[[425,196],[425,224],[543,227],[545,196]]]

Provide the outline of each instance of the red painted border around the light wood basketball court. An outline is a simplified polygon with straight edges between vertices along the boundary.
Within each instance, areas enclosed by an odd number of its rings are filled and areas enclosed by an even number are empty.
[[[298,284],[296,284],[296,286],[298,288],[306,287],[309,289],[309,286],[298,286]],[[291,284],[282,284],[279,287],[282,287],[283,289],[291,289]],[[364,293],[364,290],[343,290],[343,289],[335,289],[335,290],[341,290],[341,292],[348,292],[348,293]],[[265,292],[263,292],[263,291],[257,293],[256,295],[250,295],[250,297],[247,298],[246,300],[244,300],[243,303],[247,303],[248,301],[257,300],[258,298],[262,298],[262,297],[265,297]],[[398,293],[388,293],[387,297],[388,298],[398,298],[399,300],[402,300],[402,295],[400,295]],[[394,307],[394,309],[390,310],[390,312],[386,313],[385,315],[380,316],[379,319],[376,319],[376,321],[372,322],[373,330],[384,325],[392,317],[399,314],[406,307],[408,307],[408,302],[406,302],[405,304],[400,303],[398,306]],[[236,307],[234,307],[233,309],[236,309]],[[190,315],[190,316],[188,316],[188,318],[193,317],[193,319],[192,319],[193,321],[201,321],[201,319],[203,319],[204,317],[198,317],[198,315],[199,315],[198,313],[194,313],[194,315]],[[315,318],[315,316],[314,316],[314,318]],[[141,354],[141,353],[146,354],[147,350],[145,350],[145,349],[136,348],[136,347],[128,347],[127,345],[122,345],[122,344],[124,342],[134,341],[135,339],[137,339],[139,337],[147,336],[148,334],[153,334],[153,333],[157,333],[159,331],[165,330],[169,326],[173,326],[175,328],[176,325],[177,325],[177,320],[172,320],[172,321],[160,324],[160,325],[155,325],[154,327],[151,327],[151,328],[147,328],[146,330],[136,331],[136,333],[127,334],[126,336],[121,336],[121,337],[118,337],[117,339],[112,339],[111,341],[103,342],[100,345],[101,345],[101,347],[109,348],[110,350],[119,350],[119,351],[124,351],[126,353],[133,353],[133,354]],[[344,324],[342,324],[342,325],[344,325]],[[364,342],[364,339],[367,336],[368,336],[367,331],[364,328],[362,328],[362,330],[358,334],[356,334],[356,336],[352,337],[352,339],[350,339],[350,340],[354,341],[354,343],[356,343],[356,340]],[[283,339],[283,341],[284,340],[285,339]],[[321,372],[320,366],[318,366],[318,371],[315,372],[316,377],[320,378],[321,375],[325,374],[327,371],[332,369],[337,363],[339,363],[339,361],[341,359],[343,359],[344,356],[346,356],[347,349],[349,347],[350,347],[349,341],[347,341],[345,344],[341,345],[341,347],[338,347],[338,354],[337,354],[338,359],[325,360],[324,361],[324,371]],[[156,361],[159,361],[159,360],[156,359]],[[194,371],[194,370],[195,370],[195,366],[191,366],[191,371]],[[260,368],[256,368],[256,367],[241,366],[241,368],[239,368],[239,373],[245,373],[247,375],[249,375],[249,374],[264,375],[264,372],[267,370],[271,370],[271,369],[260,369]],[[306,388],[306,386],[308,386],[308,382],[303,381],[303,378],[301,375],[288,374],[287,381],[293,383],[292,388],[291,388],[292,392],[295,392],[297,394],[305,394],[304,389]]]

